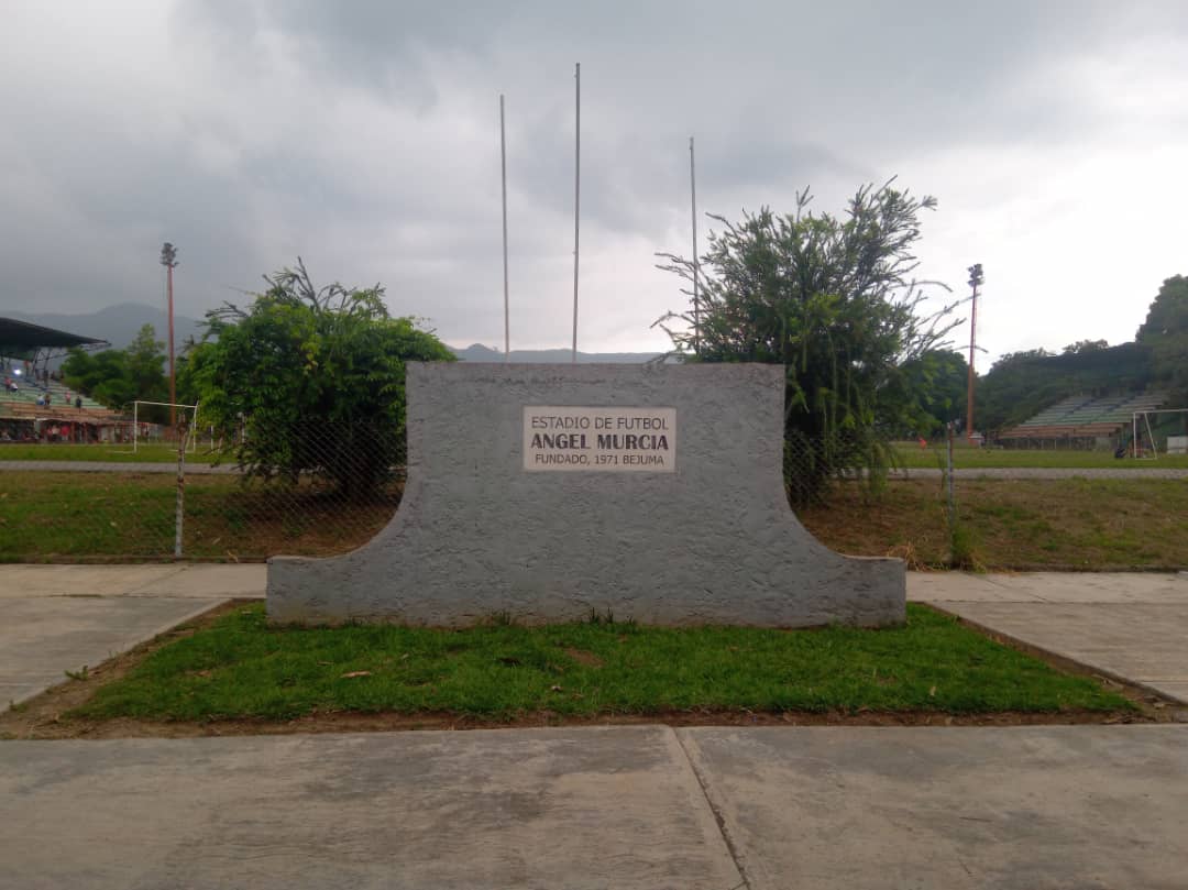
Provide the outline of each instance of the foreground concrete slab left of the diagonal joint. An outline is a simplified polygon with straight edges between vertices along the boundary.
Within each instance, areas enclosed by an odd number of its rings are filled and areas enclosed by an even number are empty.
[[[741,884],[665,727],[0,744],[0,888]]]

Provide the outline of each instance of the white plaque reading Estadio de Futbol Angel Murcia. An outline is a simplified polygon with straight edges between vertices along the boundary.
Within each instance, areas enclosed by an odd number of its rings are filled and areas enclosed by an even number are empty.
[[[525,405],[524,469],[674,473],[676,409]]]

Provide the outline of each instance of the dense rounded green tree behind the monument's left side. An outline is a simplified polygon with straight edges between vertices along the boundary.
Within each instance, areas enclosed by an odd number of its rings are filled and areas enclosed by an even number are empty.
[[[203,423],[236,436],[251,475],[315,472],[366,497],[404,461],[405,362],[454,355],[412,318],[391,317],[379,285],[317,289],[299,259],[265,280],[248,308],[208,313],[188,353]]]

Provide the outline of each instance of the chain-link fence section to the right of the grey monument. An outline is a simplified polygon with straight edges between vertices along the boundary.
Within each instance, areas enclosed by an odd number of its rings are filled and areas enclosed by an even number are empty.
[[[797,516],[834,550],[915,569],[1188,567],[1188,461],[1004,450],[952,430],[879,447],[889,463],[854,461],[860,469],[833,474],[798,503],[796,468],[816,465],[785,465]]]

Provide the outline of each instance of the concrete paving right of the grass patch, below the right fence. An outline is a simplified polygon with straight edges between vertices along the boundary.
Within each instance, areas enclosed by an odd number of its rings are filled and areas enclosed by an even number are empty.
[[[912,599],[1188,703],[1188,575],[915,575]]]

